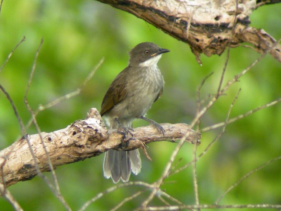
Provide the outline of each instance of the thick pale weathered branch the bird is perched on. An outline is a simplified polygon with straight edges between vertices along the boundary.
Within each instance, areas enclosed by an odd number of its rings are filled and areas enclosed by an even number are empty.
[[[201,137],[187,124],[161,125],[166,131],[164,136],[152,126],[139,127],[132,132],[135,140],[128,141],[124,147],[122,135],[116,130],[107,130],[98,110],[92,108],[85,120],[77,120],[64,129],[50,133],[42,132],[41,135],[54,168],[98,156],[108,149],[133,150],[152,141],[179,139],[186,133],[186,140],[190,142],[198,141]],[[28,138],[40,170],[50,171],[39,135],[28,135]],[[0,151],[0,165],[4,161],[3,172],[7,187],[18,181],[31,180],[37,174],[27,142],[23,138]]]

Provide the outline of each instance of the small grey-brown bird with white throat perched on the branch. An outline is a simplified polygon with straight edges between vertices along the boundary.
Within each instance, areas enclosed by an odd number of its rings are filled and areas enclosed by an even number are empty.
[[[129,65],[120,72],[107,90],[100,114],[111,129],[127,134],[132,130],[134,119],[141,118],[153,124],[158,131],[163,127],[145,116],[146,112],[162,94],[164,79],[157,66],[163,53],[168,49],[160,48],[151,42],[143,42],[134,47],[129,55]],[[123,131],[123,132],[122,132]],[[139,150],[108,150],[103,161],[104,177],[112,178],[114,183],[127,182],[131,171],[137,175],[141,171]]]

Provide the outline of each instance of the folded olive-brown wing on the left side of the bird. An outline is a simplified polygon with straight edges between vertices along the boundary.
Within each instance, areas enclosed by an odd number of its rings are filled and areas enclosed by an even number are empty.
[[[124,72],[120,72],[116,78],[110,84],[103,100],[102,100],[102,108],[101,108],[101,116],[103,116],[107,111],[111,110],[113,106],[120,103],[127,95],[126,86],[126,74]]]

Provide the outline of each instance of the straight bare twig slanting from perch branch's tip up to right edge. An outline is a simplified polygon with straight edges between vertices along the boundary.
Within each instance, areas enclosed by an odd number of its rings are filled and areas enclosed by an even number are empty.
[[[217,123],[217,124],[212,125],[212,126],[204,127],[203,129],[200,130],[200,132],[202,133],[202,132],[206,132],[206,131],[209,131],[209,130],[214,130],[214,129],[218,128],[218,127],[223,127],[225,124],[230,124],[232,122],[235,122],[235,121],[237,121],[239,119],[242,119],[242,118],[244,118],[244,117],[246,117],[246,116],[248,116],[248,115],[250,115],[252,113],[255,113],[255,112],[257,112],[257,111],[259,111],[259,110],[261,110],[263,108],[268,108],[270,106],[273,106],[273,105],[275,105],[275,104],[277,104],[279,102],[281,102],[281,98],[279,98],[277,100],[274,100],[274,101],[272,101],[270,103],[266,103],[266,104],[264,104],[264,105],[262,105],[262,106],[260,106],[258,108],[250,110],[250,111],[248,111],[248,112],[246,112],[244,114],[240,114],[237,117],[233,117],[233,118],[229,119],[227,122],[220,122],[220,123]]]

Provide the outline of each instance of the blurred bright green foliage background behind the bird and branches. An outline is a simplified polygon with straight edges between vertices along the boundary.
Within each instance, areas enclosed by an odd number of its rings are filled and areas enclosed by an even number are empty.
[[[275,4],[257,9],[250,16],[251,25],[263,28],[279,39],[280,6]],[[155,42],[171,50],[159,62],[166,82],[163,96],[147,114],[147,117],[160,123],[189,123],[196,111],[198,85],[207,74],[214,71],[202,89],[202,96],[215,93],[226,58],[226,53],[220,57],[202,55],[201,67],[188,45],[131,14],[91,0],[4,0],[0,14],[0,65],[23,36],[26,36],[26,41],[14,52],[0,73],[0,83],[11,95],[24,122],[29,120],[30,114],[23,103],[23,96],[42,37],[44,44],[28,95],[34,109],[40,103],[46,104],[77,89],[93,66],[105,57],[104,63],[80,95],[38,115],[40,128],[45,132],[64,128],[77,119],[85,118],[92,107],[99,110],[109,84],[127,65],[127,52],[140,42]],[[231,49],[223,84],[258,56],[258,53],[248,48]],[[267,55],[214,104],[202,118],[201,127],[225,120],[239,88],[242,90],[231,117],[280,98],[280,67],[274,58]],[[134,127],[145,124],[136,121]],[[198,153],[220,130],[202,134]],[[280,156],[280,131],[280,103],[228,125],[226,133],[197,163],[200,203],[214,203],[220,194],[248,171]],[[36,133],[35,128],[28,129],[28,133]],[[21,132],[12,107],[4,94],[0,93],[0,149],[12,144],[19,136]],[[154,182],[161,175],[175,146],[164,141],[149,144],[152,162],[142,155],[142,172],[137,176],[132,175],[130,180]],[[178,166],[192,160],[192,151],[193,146],[186,143],[177,157],[177,160],[183,158]],[[98,156],[56,169],[61,192],[72,209],[78,209],[86,200],[113,185],[111,180],[102,176],[102,162],[103,156]],[[221,204],[281,204],[280,168],[281,162],[275,161],[259,170],[227,194]],[[49,172],[44,174],[50,177]],[[191,167],[169,177],[167,181],[174,183],[167,183],[162,189],[185,204],[194,203]],[[8,189],[25,210],[63,210],[63,206],[38,176]],[[91,204],[88,210],[110,209],[139,189],[119,189]],[[135,208],[148,193],[126,203],[120,210]],[[155,199],[152,204],[160,205],[161,202]],[[12,210],[12,207],[0,198],[0,210]]]

